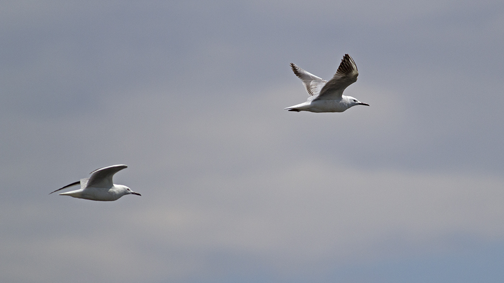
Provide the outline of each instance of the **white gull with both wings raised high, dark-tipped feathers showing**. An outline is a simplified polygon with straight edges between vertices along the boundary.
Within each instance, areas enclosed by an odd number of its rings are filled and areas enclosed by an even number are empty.
[[[309,111],[309,112],[343,112],[352,106],[365,105],[357,99],[343,95],[343,90],[350,84],[357,81],[359,72],[357,65],[350,55],[345,54],[341,59],[340,66],[329,81],[310,74],[307,71],[290,63],[294,74],[303,81],[303,85],[308,91],[308,101],[298,105],[285,108],[288,111]]]

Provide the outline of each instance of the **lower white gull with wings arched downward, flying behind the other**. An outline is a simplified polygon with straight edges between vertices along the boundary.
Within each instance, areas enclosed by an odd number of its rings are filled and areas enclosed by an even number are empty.
[[[115,201],[124,195],[142,196],[139,193],[133,192],[125,185],[117,185],[112,182],[112,176],[127,167],[126,165],[119,164],[96,169],[90,173],[91,177],[83,178],[80,181],[58,188],[56,191],[49,193],[49,195],[63,190],[64,188],[81,184],[79,190],[61,193],[59,195],[102,202]]]

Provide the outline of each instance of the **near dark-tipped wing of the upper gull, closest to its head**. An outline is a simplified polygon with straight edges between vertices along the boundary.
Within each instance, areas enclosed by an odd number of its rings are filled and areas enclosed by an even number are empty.
[[[345,54],[333,78],[322,87],[316,99],[341,99],[343,90],[357,81],[358,75],[357,65],[350,55]]]

